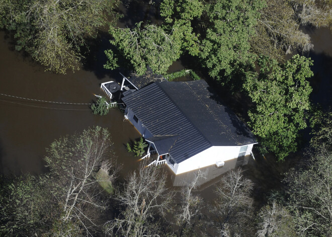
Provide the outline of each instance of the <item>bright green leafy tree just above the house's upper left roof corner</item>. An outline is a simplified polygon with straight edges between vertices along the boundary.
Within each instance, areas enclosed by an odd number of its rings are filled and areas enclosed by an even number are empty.
[[[181,54],[182,36],[179,29],[167,33],[155,25],[143,27],[140,22],[132,30],[111,27],[109,32],[114,38],[110,42],[116,46],[117,52],[111,49],[105,51],[108,61],[104,67],[107,69],[127,65],[142,75],[150,66],[155,73],[165,73]]]

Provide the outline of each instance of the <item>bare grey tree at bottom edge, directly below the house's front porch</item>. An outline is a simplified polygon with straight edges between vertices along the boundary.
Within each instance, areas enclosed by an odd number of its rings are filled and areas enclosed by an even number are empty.
[[[164,173],[142,163],[117,194],[116,200],[122,208],[114,220],[106,223],[106,232],[119,236],[159,236],[159,218],[170,209],[172,197]]]

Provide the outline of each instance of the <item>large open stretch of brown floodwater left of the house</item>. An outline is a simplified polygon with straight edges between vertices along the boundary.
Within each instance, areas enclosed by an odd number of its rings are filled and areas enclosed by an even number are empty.
[[[9,49],[4,33],[0,33],[0,93],[55,102],[91,103],[94,94],[102,94],[100,84],[111,81],[109,75],[98,78],[93,71],[57,75]],[[118,74],[119,78],[120,75]],[[91,126],[107,127],[114,142],[118,160],[125,170],[137,166],[137,157],[129,154],[124,144],[139,133],[123,120],[118,109],[106,116],[93,115],[89,105],[57,105],[30,102],[0,95],[0,168],[3,174],[42,173],[45,171],[45,147],[65,134],[73,134]]]

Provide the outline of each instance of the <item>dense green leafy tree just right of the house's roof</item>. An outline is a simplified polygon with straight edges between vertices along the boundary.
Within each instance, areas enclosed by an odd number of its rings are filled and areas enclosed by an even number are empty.
[[[253,133],[263,151],[283,160],[295,151],[299,131],[307,126],[312,91],[306,78],[313,75],[312,60],[295,55],[284,64],[261,57],[260,73],[248,72],[244,88],[255,103],[248,112]]]

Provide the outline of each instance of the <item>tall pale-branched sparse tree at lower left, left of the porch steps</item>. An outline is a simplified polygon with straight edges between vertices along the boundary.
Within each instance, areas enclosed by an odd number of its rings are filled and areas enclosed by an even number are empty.
[[[52,234],[68,235],[79,230],[92,236],[97,229],[97,218],[107,207],[99,183],[115,177],[111,173],[96,179],[96,172],[104,169],[108,174],[114,170],[109,160],[111,144],[109,132],[101,127],[62,137],[51,144],[45,158],[50,169],[50,192],[62,209]]]

